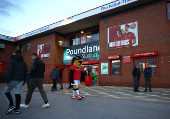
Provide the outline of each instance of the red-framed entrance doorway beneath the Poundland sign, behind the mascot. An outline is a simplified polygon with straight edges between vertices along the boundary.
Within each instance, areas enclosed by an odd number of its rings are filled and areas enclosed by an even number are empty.
[[[82,65],[82,70],[85,73],[85,70],[88,69],[90,74],[93,72],[97,76],[97,80],[95,81],[96,84],[99,84],[99,66],[98,64],[93,64],[93,65]]]

